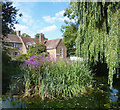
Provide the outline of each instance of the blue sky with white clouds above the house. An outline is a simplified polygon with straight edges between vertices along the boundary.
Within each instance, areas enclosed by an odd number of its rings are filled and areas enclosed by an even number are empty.
[[[64,9],[69,7],[69,2],[13,2],[23,16],[17,17],[19,24],[16,30],[34,37],[36,33],[44,33],[48,39],[62,38],[61,26],[64,20]]]

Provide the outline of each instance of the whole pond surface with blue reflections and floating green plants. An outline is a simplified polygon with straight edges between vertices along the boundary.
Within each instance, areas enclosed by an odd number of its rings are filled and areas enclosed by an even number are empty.
[[[45,99],[18,98],[2,96],[0,108],[89,108],[89,109],[120,109],[120,88],[118,85],[109,89],[107,81],[96,79],[94,89],[73,98]]]

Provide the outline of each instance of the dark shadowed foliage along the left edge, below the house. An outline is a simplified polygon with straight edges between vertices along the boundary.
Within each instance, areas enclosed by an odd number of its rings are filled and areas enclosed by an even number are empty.
[[[20,69],[18,64],[11,61],[11,57],[6,50],[2,51],[2,94],[8,91],[11,77],[18,74]]]

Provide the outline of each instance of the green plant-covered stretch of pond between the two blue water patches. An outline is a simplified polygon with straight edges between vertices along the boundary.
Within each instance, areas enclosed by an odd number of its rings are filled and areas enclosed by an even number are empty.
[[[99,100],[98,100],[99,99]],[[105,103],[108,103],[108,96],[106,93],[102,93],[98,90],[93,90],[92,92],[86,92],[83,95],[78,97],[73,97],[71,99],[54,99],[49,100],[45,99],[41,101],[39,97],[28,98],[26,108],[62,108],[62,109],[107,109],[104,106]]]

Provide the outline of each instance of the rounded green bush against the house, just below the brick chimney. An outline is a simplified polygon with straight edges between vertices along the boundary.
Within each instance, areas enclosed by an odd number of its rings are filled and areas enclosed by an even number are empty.
[[[29,56],[36,56],[42,53],[46,52],[46,46],[43,43],[37,43],[35,45],[32,45],[28,51],[27,51],[27,58],[29,58]]]

